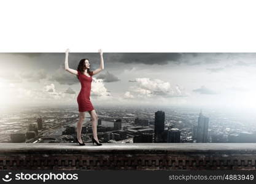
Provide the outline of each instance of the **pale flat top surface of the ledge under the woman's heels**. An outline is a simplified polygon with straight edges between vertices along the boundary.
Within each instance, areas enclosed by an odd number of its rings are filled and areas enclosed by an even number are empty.
[[[256,143],[103,143],[102,146],[86,143],[79,146],[75,143],[0,143],[1,153],[256,153]],[[256,158],[255,158],[256,159]]]

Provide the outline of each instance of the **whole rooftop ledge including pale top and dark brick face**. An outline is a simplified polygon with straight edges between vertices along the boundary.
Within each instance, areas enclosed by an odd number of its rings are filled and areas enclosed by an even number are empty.
[[[0,144],[0,169],[256,170],[256,144]]]

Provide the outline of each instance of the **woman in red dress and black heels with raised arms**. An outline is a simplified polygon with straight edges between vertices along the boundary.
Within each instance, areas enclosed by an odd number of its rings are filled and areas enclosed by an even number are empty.
[[[99,50],[99,54],[101,56],[101,64],[98,69],[95,71],[90,71],[90,63],[88,59],[81,59],[77,70],[71,69],[68,66],[68,54],[69,49],[66,50],[66,58],[65,58],[65,70],[70,72],[71,74],[77,75],[77,78],[79,79],[81,83],[81,90],[79,95],[77,96],[77,103],[79,106],[79,121],[77,122],[77,137],[76,141],[79,143],[79,145],[85,145],[81,138],[81,131],[82,131],[82,123],[85,119],[85,112],[89,112],[91,115],[91,125],[93,128],[93,137],[92,142],[93,145],[96,143],[96,145],[102,145],[99,143],[98,136],[97,136],[97,124],[98,124],[98,115],[95,112],[95,109],[90,101],[90,92],[91,92],[91,81],[92,75],[98,74],[104,69],[104,61],[103,61],[103,52],[102,50]]]

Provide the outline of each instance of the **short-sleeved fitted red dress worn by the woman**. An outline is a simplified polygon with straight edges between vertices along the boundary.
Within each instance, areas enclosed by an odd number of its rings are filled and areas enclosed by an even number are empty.
[[[85,111],[90,111],[94,109],[90,101],[91,81],[93,80],[93,78],[91,77],[91,74],[90,74],[90,77],[88,77],[87,75],[82,74],[82,72],[77,70],[77,76],[81,83],[81,90],[77,96],[79,112],[85,112]]]

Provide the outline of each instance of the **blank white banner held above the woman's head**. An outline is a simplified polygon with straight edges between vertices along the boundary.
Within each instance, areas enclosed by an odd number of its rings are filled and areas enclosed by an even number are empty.
[[[256,52],[255,1],[1,1],[0,52]]]

